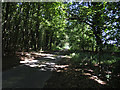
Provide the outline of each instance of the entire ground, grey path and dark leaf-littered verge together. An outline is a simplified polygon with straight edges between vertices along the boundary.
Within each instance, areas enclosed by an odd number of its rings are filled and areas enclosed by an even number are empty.
[[[82,62],[80,65],[65,52],[19,54],[22,64],[3,71],[3,88],[120,87],[120,76],[108,80],[106,76],[112,74],[110,71],[105,71],[105,66],[89,62]]]

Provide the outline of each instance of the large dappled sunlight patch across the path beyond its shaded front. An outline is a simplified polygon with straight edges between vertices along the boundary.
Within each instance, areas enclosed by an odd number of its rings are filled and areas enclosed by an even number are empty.
[[[22,60],[20,63],[23,63],[30,67],[38,68],[39,70],[57,70],[58,68],[65,68],[68,65],[57,65],[56,62],[60,61],[62,58],[71,58],[66,55],[56,55],[56,54],[46,54],[46,53],[22,53]]]

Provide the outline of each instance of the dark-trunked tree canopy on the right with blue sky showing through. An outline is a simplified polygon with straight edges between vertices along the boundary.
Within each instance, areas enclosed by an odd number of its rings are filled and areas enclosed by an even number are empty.
[[[70,4],[70,8],[67,10],[69,13],[68,20],[72,21],[68,24],[68,33],[71,33],[71,35],[75,34],[76,37],[82,37],[82,40],[80,40],[79,38],[69,36],[69,42],[72,43],[71,45],[73,46],[72,50],[83,48],[83,50],[87,49],[94,51],[94,48],[96,48],[96,51],[102,51],[104,48],[104,39],[106,39],[105,43],[108,43],[110,40],[119,41],[118,33],[115,33],[116,31],[119,32],[119,21],[116,22],[116,19],[119,18],[118,5],[118,3],[114,3],[112,5],[112,3],[106,2],[84,2],[82,4]],[[115,23],[118,23],[117,28]],[[81,31],[81,29],[83,29],[83,31]],[[110,33],[107,34],[108,31]],[[105,35],[103,35],[103,33],[105,33]],[[108,36],[110,36],[109,40],[107,39]],[[73,43],[73,41],[75,43]]]

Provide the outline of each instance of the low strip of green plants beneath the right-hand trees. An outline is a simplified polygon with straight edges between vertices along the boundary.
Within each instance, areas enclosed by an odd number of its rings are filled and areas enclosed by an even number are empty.
[[[71,54],[72,56],[72,54]],[[100,63],[101,64],[107,64],[107,65],[111,65],[117,61],[120,60],[120,57],[108,54],[108,53],[104,53],[102,55],[100,55]],[[94,53],[89,53],[89,52],[80,52],[80,53],[76,53],[73,57],[72,60],[76,63],[82,63],[82,62],[90,62],[92,64],[98,64],[99,63],[99,54],[94,54]]]

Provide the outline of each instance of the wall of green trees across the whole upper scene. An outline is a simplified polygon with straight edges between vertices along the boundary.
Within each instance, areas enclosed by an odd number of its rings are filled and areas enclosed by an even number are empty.
[[[119,2],[2,3],[3,54],[17,51],[120,51]]]

